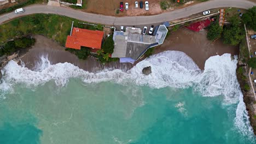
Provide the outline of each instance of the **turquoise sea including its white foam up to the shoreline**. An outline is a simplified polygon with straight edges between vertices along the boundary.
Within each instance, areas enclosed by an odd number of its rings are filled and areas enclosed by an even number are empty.
[[[163,56],[177,55],[167,54],[160,55],[167,74],[156,68],[160,59],[141,63],[151,64],[150,79],[138,74],[139,64],[95,75],[67,63],[36,72],[10,62],[0,85],[0,143],[256,143],[233,75],[236,61],[209,59],[230,68],[206,65],[203,73],[189,62],[186,72],[175,58],[165,63]]]

